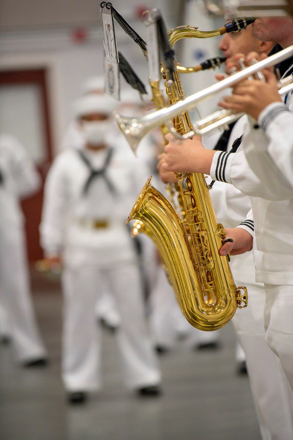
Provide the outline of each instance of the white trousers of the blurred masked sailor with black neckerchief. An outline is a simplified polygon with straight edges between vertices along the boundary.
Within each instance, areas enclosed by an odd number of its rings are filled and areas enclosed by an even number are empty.
[[[157,385],[161,374],[147,334],[139,271],[134,262],[124,261],[107,269],[89,264],[67,267],[63,272],[65,388],[69,391],[100,388],[101,330],[94,307],[105,289],[105,279],[121,316],[117,336],[125,382],[130,388]]]

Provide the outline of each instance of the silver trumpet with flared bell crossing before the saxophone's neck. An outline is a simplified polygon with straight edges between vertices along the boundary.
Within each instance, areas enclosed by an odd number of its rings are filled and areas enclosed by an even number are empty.
[[[198,104],[206,101],[207,99],[212,98],[214,95],[221,92],[222,90],[233,86],[238,81],[250,77],[251,75],[267,67],[275,66],[275,64],[282,62],[290,58],[291,56],[293,56],[293,46],[289,46],[288,48],[283,49],[277,54],[271,55],[267,59],[257,62],[252,66],[246,67],[246,69],[235,73],[231,77],[225,78],[223,81],[220,81],[217,84],[213,84],[212,86],[207,87],[206,89],[200,92],[196,92],[193,95],[190,95],[187,98],[183,99],[182,101],[179,101],[171,105],[170,107],[165,107],[163,109],[157,110],[141,118],[124,117],[123,115],[119,115],[116,111],[114,111],[113,112],[114,117],[116,119],[117,124],[119,125],[121,132],[127,139],[127,142],[129,143],[131,149],[135,153],[141,139],[153,128],[156,128],[158,125],[161,125],[163,123],[168,123],[172,125],[172,118],[178,115],[180,116],[181,114],[184,113],[184,111],[191,110]],[[172,84],[170,83],[170,86],[171,85]],[[166,84],[166,86],[168,87],[168,84]],[[280,94],[288,93],[292,89],[293,89],[292,84],[285,85],[279,90],[279,93]],[[237,119],[239,117],[240,116],[238,116]],[[195,130],[196,127],[194,130],[187,132],[181,137],[183,139],[188,139],[196,133]],[[171,131],[175,132],[175,130],[172,129],[172,127],[171,127]]]

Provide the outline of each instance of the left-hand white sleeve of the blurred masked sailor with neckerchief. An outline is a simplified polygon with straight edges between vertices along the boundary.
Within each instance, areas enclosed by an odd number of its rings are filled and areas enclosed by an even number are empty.
[[[47,256],[60,253],[64,245],[67,187],[63,158],[59,156],[47,174],[44,187],[40,244]]]

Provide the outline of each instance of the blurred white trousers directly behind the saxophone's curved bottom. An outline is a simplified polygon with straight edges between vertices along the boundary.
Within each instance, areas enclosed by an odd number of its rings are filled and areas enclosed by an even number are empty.
[[[159,268],[156,286],[152,290],[151,309],[152,337],[156,345],[172,348],[180,334],[187,337],[187,344],[190,346],[218,341],[218,331],[197,330],[188,323],[162,266]]]

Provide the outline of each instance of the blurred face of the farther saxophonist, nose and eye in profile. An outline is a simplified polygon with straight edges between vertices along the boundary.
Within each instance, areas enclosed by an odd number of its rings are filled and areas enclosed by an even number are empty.
[[[224,34],[219,44],[219,50],[223,52],[225,58],[230,58],[236,53],[247,55],[252,51],[260,51],[260,41],[253,36],[252,27],[248,26],[242,32]]]

